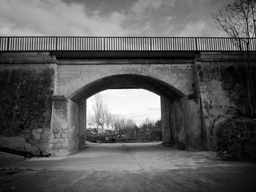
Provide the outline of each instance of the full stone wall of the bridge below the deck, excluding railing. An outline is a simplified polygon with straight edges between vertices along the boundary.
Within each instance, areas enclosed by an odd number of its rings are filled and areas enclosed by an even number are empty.
[[[108,88],[145,88],[162,96],[164,145],[214,149],[214,126],[241,115],[241,109],[248,112],[244,60],[244,55],[230,53],[201,53],[195,62],[191,58],[57,61],[50,53],[1,53],[0,135],[22,136],[41,155],[68,154],[86,145],[89,96]],[[249,65],[254,107],[255,61],[255,56],[250,58]]]

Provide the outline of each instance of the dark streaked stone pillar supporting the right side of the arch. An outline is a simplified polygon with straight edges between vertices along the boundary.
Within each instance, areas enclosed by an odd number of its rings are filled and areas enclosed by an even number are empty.
[[[205,149],[200,97],[188,96],[178,101],[161,97],[162,143],[179,149]]]

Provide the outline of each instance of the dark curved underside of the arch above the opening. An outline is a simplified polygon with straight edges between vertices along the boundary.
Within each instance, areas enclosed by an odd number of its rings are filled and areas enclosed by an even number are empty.
[[[69,99],[79,103],[83,99],[88,99],[90,96],[93,96],[100,91],[122,88],[142,88],[156,93],[159,96],[165,96],[171,101],[176,101],[185,96],[185,94],[177,88],[154,77],[148,77],[141,74],[116,74],[89,82],[72,93],[69,96]]]

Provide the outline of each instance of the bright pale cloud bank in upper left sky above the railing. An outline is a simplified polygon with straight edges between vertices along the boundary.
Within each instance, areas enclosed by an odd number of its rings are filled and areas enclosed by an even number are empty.
[[[1,0],[0,35],[124,36],[121,12],[100,15],[84,4],[60,0]],[[104,29],[104,30],[103,30]]]

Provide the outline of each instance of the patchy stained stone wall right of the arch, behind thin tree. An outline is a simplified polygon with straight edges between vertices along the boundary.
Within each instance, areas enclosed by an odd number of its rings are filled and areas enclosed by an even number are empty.
[[[249,74],[252,105],[256,106],[256,58],[250,56]],[[197,76],[203,106],[208,149],[215,150],[214,127],[231,118],[249,113],[246,90],[246,60],[239,54],[201,54]]]

